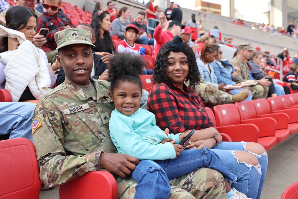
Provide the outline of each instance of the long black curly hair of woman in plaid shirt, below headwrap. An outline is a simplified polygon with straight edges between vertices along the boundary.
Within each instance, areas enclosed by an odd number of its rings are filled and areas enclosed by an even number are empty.
[[[170,53],[170,45],[168,41],[165,43],[160,49],[159,53],[156,56],[155,66],[152,75],[152,81],[155,83],[165,83],[168,86],[174,87],[173,82],[169,80],[167,77],[167,58]],[[188,64],[189,64],[189,72],[185,79],[186,83],[189,85],[188,87],[191,89],[195,89],[195,87],[200,83],[201,75],[198,70],[198,65],[195,60],[195,53],[193,49],[184,41],[183,42],[183,50],[186,52]]]

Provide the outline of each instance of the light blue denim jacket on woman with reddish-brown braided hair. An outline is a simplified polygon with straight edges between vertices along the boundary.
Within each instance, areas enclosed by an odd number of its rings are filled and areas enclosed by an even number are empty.
[[[211,73],[205,67],[204,62],[201,59],[197,59],[197,64],[198,64],[200,75],[206,81],[206,84],[212,84],[213,86],[218,88],[218,81],[211,64],[208,64],[211,70]]]

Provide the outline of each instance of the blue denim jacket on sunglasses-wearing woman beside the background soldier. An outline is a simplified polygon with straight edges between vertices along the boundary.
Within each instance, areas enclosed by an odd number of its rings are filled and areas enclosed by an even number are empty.
[[[236,82],[232,80],[232,74],[228,69],[221,65],[221,62],[215,60],[211,63],[211,65],[214,69],[218,84],[232,84],[233,86],[236,85]]]

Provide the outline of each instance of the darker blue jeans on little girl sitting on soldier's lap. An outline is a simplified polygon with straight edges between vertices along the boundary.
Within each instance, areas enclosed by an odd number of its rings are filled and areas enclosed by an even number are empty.
[[[215,169],[221,172],[226,180],[236,181],[223,161],[208,148],[183,150],[175,159],[139,162],[131,174],[137,182],[135,199],[169,198],[169,180],[201,167]]]

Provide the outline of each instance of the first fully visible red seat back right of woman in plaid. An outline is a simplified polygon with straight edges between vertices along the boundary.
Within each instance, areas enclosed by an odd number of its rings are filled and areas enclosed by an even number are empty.
[[[218,127],[240,124],[240,115],[235,104],[222,104],[213,107]]]

